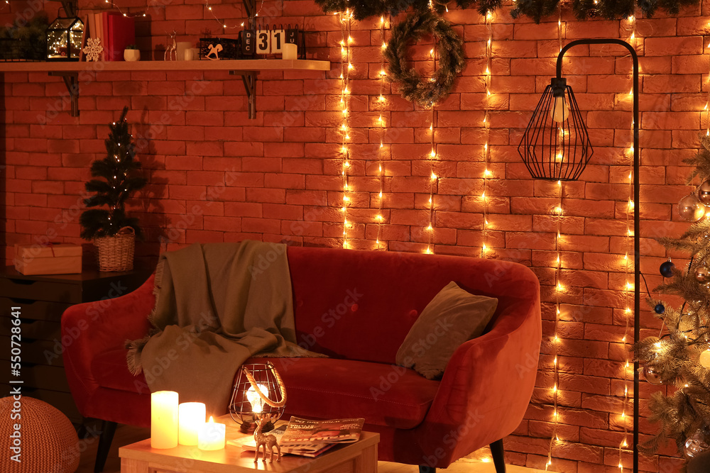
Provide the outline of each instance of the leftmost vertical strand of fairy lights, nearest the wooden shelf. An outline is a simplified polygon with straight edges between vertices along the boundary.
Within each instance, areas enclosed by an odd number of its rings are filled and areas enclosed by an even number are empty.
[[[343,247],[349,248],[350,242],[348,240],[348,228],[350,223],[348,221],[348,204],[350,202],[349,193],[352,191],[352,186],[349,182],[349,171],[350,171],[350,71],[353,69],[351,64],[351,43],[352,36],[350,35],[351,28],[351,18],[352,14],[349,9],[345,10],[345,13],[340,13],[340,83],[341,83],[341,94],[340,94],[340,106],[342,107],[343,121],[340,125],[340,135],[341,141],[341,155],[342,155],[342,170],[341,175],[343,179],[343,203],[341,211],[343,213]]]

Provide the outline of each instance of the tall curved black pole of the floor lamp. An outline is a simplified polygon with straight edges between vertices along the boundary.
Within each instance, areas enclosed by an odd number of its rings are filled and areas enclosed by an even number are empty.
[[[564,53],[577,45],[620,45],[626,48],[633,60],[633,341],[639,338],[640,317],[640,240],[639,240],[639,148],[638,148],[638,55],[636,50],[626,41],[613,38],[574,40],[562,48],[557,55],[557,79],[562,79],[562,57]],[[638,360],[633,362],[633,471],[638,472]]]

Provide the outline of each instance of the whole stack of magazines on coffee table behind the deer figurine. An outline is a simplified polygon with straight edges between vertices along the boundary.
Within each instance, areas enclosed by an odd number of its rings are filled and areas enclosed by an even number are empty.
[[[329,421],[309,421],[291,417],[288,424],[281,425],[266,435],[274,435],[281,453],[317,457],[322,452],[341,443],[357,442],[360,439],[364,418],[332,419]],[[229,445],[241,447],[243,451],[256,450],[253,435],[229,440]]]

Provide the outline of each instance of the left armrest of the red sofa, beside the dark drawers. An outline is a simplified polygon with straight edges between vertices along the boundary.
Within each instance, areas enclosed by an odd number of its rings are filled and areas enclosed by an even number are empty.
[[[62,313],[62,357],[67,381],[80,412],[99,387],[91,372],[94,357],[143,338],[150,328],[154,275],[116,299],[77,304]]]

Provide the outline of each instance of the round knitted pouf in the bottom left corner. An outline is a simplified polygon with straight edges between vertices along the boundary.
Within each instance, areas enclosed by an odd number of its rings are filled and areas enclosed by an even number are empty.
[[[2,419],[0,450],[6,459],[0,466],[0,471],[7,473],[74,473],[77,471],[79,438],[67,416],[57,408],[31,397],[22,396],[19,401],[12,397],[4,397],[0,399],[0,419]],[[18,426],[19,429],[16,429]],[[19,450],[16,447],[19,447]],[[13,461],[13,458],[20,461]]]

